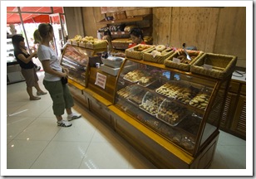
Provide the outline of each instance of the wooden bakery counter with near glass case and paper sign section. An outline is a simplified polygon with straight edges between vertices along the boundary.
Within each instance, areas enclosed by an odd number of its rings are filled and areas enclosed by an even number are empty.
[[[87,85],[69,80],[75,98],[156,167],[209,168],[231,75],[211,78],[130,58],[117,76],[86,70]]]

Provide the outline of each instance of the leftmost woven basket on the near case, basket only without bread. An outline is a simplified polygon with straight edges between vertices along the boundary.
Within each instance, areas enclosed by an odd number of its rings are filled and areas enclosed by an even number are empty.
[[[142,60],[143,59],[143,54],[147,51],[151,51],[155,49],[155,46],[150,46],[149,48],[145,49],[144,51],[138,51],[140,44],[134,47],[131,47],[129,49],[126,49],[126,57],[132,58],[135,60]],[[149,45],[144,45],[144,46],[149,46]]]

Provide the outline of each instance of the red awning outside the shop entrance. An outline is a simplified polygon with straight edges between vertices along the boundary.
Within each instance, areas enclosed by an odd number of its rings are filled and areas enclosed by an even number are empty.
[[[11,12],[17,12],[17,7],[7,7],[7,24],[22,23],[19,13]],[[23,23],[42,23],[50,22],[49,15],[42,12],[51,14],[52,10],[51,7],[21,7],[21,12]],[[53,13],[63,13],[63,8],[53,7]]]

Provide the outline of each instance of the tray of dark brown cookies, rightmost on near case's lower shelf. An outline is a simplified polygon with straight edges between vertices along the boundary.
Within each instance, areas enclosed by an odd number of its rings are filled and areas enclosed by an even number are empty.
[[[160,104],[156,118],[171,126],[176,126],[187,116],[185,111],[187,111],[185,107],[181,107],[172,101],[165,99],[162,104]]]

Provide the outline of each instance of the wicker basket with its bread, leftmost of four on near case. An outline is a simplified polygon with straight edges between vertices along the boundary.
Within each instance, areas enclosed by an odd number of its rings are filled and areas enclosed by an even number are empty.
[[[137,46],[130,47],[129,49],[126,49],[126,57],[127,58],[132,58],[135,60],[142,60],[143,59],[143,54],[146,51],[153,50],[155,46],[150,46],[150,45],[144,45],[144,44],[139,44]]]

